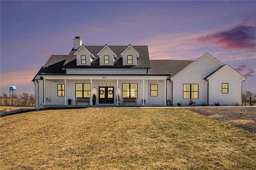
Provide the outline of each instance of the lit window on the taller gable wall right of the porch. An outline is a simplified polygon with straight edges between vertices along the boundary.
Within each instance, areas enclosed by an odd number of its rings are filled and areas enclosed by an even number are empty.
[[[183,99],[198,99],[198,84],[183,84]]]

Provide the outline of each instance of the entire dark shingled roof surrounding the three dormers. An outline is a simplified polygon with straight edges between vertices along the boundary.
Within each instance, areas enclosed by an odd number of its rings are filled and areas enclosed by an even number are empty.
[[[148,68],[148,75],[172,75],[174,76],[180,70],[185,68],[193,61],[177,61],[177,60],[149,60],[148,46],[133,46],[140,53],[137,59],[137,66],[123,66],[120,53],[127,46],[109,46],[115,53],[116,59],[114,66],[100,66],[97,53],[104,46],[86,46],[88,50],[96,57],[93,59],[91,66],[77,66],[76,50],[72,49],[69,55],[52,55],[46,64],[38,71],[32,81],[40,79],[39,74],[65,74],[64,68]]]

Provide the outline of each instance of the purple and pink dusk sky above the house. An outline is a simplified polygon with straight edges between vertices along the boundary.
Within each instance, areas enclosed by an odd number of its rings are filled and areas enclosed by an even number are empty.
[[[34,94],[51,55],[84,45],[148,45],[150,59],[209,53],[256,93],[256,1],[0,1],[0,92]]]

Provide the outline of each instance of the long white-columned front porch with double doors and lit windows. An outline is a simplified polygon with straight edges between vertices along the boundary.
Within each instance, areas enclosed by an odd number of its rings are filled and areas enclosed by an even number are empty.
[[[154,88],[152,88],[154,87]],[[172,98],[166,76],[45,76],[36,84],[36,108],[166,106]],[[96,106],[93,105],[96,98]],[[89,99],[77,102],[77,98]],[[136,102],[126,101],[135,98]],[[71,102],[71,106],[68,103]],[[119,104],[118,104],[119,103]]]

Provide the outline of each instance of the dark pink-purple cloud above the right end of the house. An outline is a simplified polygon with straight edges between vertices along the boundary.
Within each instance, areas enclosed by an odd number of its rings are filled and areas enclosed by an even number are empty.
[[[222,49],[256,51],[256,26],[236,25],[224,31],[217,31],[197,39],[199,43],[220,45]]]

